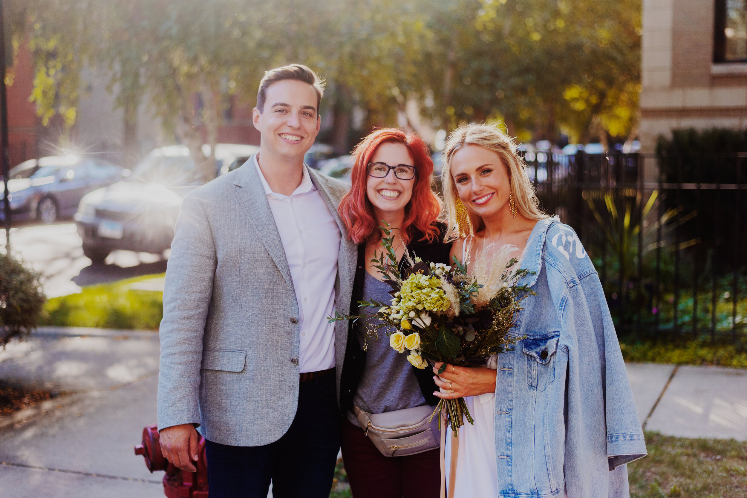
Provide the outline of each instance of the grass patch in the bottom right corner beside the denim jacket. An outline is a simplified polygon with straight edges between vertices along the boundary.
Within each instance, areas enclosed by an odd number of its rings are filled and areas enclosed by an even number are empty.
[[[627,466],[631,498],[744,498],[747,442],[646,432],[648,456]]]

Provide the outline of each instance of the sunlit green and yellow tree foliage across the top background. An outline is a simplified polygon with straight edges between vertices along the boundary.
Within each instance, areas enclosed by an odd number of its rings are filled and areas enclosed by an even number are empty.
[[[86,65],[104,70],[134,136],[137,105],[190,148],[205,180],[230,98],[252,104],[264,70],[305,63],[328,81],[323,111],[346,151],[397,124],[409,101],[433,127],[503,121],[520,139],[627,136],[636,123],[640,6],[632,0],[28,0],[43,122],[75,119]]]

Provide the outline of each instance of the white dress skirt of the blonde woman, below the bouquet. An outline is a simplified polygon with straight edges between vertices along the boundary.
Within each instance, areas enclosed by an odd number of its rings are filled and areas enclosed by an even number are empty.
[[[488,359],[488,368],[498,368],[498,355]],[[498,496],[498,466],[495,463],[495,393],[465,397],[474,425],[465,418],[459,427],[459,453],[456,457],[456,485],[453,497],[476,498]],[[446,432],[446,488],[451,469],[451,429]]]

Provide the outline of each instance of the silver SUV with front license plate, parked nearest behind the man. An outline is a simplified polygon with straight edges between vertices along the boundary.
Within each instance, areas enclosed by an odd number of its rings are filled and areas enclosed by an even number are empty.
[[[255,145],[217,144],[218,173],[256,150]],[[209,146],[203,145],[202,151],[209,154]],[[74,219],[83,253],[93,262],[103,262],[116,249],[163,253],[171,247],[182,200],[202,183],[184,145],[150,151],[125,181],[81,199]]]

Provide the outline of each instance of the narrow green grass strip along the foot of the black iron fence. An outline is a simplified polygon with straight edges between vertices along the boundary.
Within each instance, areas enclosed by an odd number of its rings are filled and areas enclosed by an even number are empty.
[[[620,349],[626,362],[747,368],[747,352],[743,345],[711,344],[707,338],[690,341],[627,341],[622,338]]]

